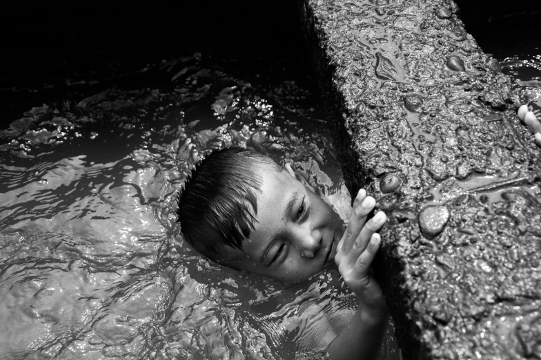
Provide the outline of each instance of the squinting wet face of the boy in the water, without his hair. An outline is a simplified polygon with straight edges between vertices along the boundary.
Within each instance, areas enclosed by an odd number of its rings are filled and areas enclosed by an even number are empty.
[[[232,265],[282,283],[296,283],[334,266],[342,220],[302,176],[286,166],[277,173],[262,167],[255,229],[230,248]]]

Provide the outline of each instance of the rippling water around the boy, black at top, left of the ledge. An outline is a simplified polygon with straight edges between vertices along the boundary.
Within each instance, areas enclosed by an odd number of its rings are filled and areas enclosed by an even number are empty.
[[[325,318],[340,327],[355,308],[336,272],[286,290],[241,278],[184,246],[174,214],[193,164],[239,145],[293,162],[347,218],[295,3],[7,16],[4,359],[321,357]],[[398,358],[391,332],[382,359]]]

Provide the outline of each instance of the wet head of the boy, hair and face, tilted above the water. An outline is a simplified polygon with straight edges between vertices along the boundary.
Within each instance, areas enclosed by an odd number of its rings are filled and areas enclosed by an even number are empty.
[[[195,167],[177,214],[204,256],[284,283],[333,265],[343,233],[340,217],[290,164],[242,148],[213,151]]]

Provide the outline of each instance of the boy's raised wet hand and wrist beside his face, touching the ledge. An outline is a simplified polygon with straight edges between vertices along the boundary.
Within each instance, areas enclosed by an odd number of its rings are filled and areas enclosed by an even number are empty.
[[[380,211],[366,221],[374,207],[374,198],[366,196],[366,191],[361,189],[353,201],[346,232],[338,243],[335,262],[344,281],[357,295],[364,309],[374,315],[384,315],[387,307],[382,290],[368,274],[381,243],[380,234],[375,234],[375,231],[387,220],[386,215]]]

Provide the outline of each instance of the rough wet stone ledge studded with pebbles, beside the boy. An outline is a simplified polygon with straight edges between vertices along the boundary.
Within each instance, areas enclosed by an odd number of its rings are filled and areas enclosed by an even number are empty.
[[[541,358],[541,152],[444,0],[299,0],[406,359]],[[428,211],[428,213],[427,213]]]

